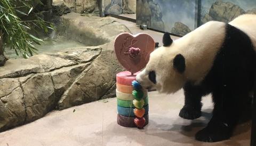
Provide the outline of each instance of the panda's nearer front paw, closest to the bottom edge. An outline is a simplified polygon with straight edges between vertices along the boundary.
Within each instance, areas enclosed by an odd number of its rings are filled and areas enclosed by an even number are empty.
[[[223,127],[206,127],[196,133],[196,140],[203,142],[217,142],[230,138],[230,133]]]

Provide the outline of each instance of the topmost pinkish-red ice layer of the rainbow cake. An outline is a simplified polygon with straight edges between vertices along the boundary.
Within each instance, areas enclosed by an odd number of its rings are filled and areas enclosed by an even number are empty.
[[[131,86],[133,80],[136,80],[136,75],[138,74],[139,72],[136,72],[133,75],[130,71],[119,72],[118,74],[116,74],[116,83]]]

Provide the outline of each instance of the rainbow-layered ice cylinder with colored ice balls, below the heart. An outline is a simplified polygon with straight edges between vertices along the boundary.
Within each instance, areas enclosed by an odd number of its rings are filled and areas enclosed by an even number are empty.
[[[116,75],[117,123],[142,128],[148,124],[148,96],[146,90],[133,88],[136,75],[131,75],[129,71]]]

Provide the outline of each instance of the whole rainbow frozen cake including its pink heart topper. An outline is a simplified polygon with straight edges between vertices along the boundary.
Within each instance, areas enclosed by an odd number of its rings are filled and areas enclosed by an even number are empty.
[[[143,128],[148,124],[148,94],[136,75],[146,66],[154,48],[154,39],[147,34],[122,33],[115,39],[117,59],[128,70],[116,75],[117,124],[121,126]]]

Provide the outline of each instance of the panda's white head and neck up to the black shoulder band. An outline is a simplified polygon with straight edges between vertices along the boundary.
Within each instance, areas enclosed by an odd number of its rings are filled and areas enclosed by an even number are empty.
[[[187,80],[199,84],[212,68],[225,34],[226,23],[218,21],[207,22],[174,42],[165,33],[163,46],[150,54],[138,82],[162,93],[178,91]]]

